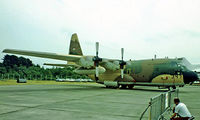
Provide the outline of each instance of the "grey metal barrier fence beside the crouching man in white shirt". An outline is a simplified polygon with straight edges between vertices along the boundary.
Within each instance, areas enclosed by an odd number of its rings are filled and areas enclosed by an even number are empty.
[[[149,106],[147,107],[147,109],[149,109],[149,120],[164,120],[163,115],[165,112],[172,110],[174,98],[178,97],[178,92],[179,90],[176,89],[151,98]],[[147,109],[141,115],[140,120]]]

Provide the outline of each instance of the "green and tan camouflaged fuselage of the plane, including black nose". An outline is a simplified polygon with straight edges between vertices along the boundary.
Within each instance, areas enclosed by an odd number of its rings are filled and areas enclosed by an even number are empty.
[[[94,76],[90,75],[95,80]],[[127,61],[124,78],[121,78],[120,70],[107,70],[99,76],[98,82],[142,82],[157,83],[163,85],[187,84],[196,79],[196,74],[188,70],[179,59],[149,59]]]

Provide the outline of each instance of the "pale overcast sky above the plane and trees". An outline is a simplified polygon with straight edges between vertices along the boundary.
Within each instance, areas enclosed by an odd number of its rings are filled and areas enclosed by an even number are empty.
[[[98,41],[101,57],[120,58],[124,47],[126,60],[156,54],[200,63],[200,0],[0,0],[1,51],[67,54],[73,33],[85,55]]]

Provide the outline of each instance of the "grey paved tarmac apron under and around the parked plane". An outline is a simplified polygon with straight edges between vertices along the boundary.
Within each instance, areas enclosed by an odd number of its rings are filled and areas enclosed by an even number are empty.
[[[200,119],[200,86],[180,88],[180,99]],[[139,120],[151,97],[166,90],[99,84],[0,85],[0,120]],[[143,117],[148,120],[148,113]]]

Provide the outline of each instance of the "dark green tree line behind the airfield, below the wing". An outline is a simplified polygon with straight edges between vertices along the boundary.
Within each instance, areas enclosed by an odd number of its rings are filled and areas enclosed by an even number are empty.
[[[0,62],[0,78],[26,78],[38,80],[55,80],[57,78],[74,78],[85,79],[85,75],[79,75],[73,72],[74,67],[52,67],[44,68],[40,65],[35,65],[33,62],[24,57],[15,55],[5,55],[3,62]]]

